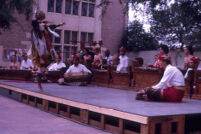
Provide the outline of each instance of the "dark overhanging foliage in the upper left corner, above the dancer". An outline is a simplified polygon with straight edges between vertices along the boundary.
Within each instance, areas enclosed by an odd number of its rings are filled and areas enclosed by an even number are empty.
[[[14,13],[25,14],[28,20],[32,11],[32,0],[0,0],[0,32],[17,22]]]

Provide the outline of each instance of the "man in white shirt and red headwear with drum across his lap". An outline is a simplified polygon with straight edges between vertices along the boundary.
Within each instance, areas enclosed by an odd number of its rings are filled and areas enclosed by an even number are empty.
[[[59,84],[66,85],[87,85],[91,71],[84,65],[79,64],[79,57],[73,56],[73,65],[71,65],[64,73],[64,78],[58,80]]]

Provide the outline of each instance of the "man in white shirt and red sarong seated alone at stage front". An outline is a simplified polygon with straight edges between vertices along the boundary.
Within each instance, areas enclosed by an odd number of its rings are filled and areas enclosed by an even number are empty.
[[[159,65],[164,74],[160,82],[140,90],[137,100],[181,102],[184,97],[184,76],[179,69],[170,64],[168,56],[159,57]]]

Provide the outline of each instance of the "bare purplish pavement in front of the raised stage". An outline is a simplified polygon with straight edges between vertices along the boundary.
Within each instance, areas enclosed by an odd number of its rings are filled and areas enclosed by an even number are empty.
[[[0,134],[110,134],[0,95]]]

